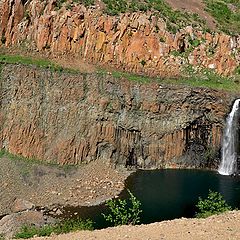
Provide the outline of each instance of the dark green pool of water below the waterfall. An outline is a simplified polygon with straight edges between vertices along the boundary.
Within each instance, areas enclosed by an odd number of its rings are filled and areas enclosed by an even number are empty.
[[[212,171],[137,171],[127,179],[126,188],[142,203],[142,223],[193,217],[198,198],[206,197],[209,189],[220,192],[233,208],[240,208],[240,178]],[[125,197],[126,191],[121,196]],[[101,216],[101,212],[106,211],[103,205],[70,210],[93,219],[96,228],[107,227]]]

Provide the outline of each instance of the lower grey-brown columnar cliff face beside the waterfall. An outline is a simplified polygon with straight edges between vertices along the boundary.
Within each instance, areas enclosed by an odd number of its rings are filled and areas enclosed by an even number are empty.
[[[6,65],[1,147],[61,164],[203,167],[231,101],[214,90]]]

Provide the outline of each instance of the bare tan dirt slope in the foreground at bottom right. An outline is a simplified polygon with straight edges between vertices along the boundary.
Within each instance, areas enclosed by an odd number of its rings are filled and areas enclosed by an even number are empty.
[[[81,231],[34,240],[237,240],[240,239],[240,211],[207,219],[175,219],[141,226],[121,226]]]

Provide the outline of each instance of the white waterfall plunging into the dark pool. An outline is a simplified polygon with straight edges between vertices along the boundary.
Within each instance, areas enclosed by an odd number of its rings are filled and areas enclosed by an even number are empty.
[[[237,171],[237,142],[238,142],[238,109],[240,99],[237,99],[232,111],[227,117],[222,142],[222,159],[218,172],[231,175]]]

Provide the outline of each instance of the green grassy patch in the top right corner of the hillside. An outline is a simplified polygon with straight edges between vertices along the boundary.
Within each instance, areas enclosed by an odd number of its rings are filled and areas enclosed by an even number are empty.
[[[205,0],[206,10],[217,20],[219,28],[227,34],[240,33],[239,0]],[[233,6],[235,10],[230,8]]]

